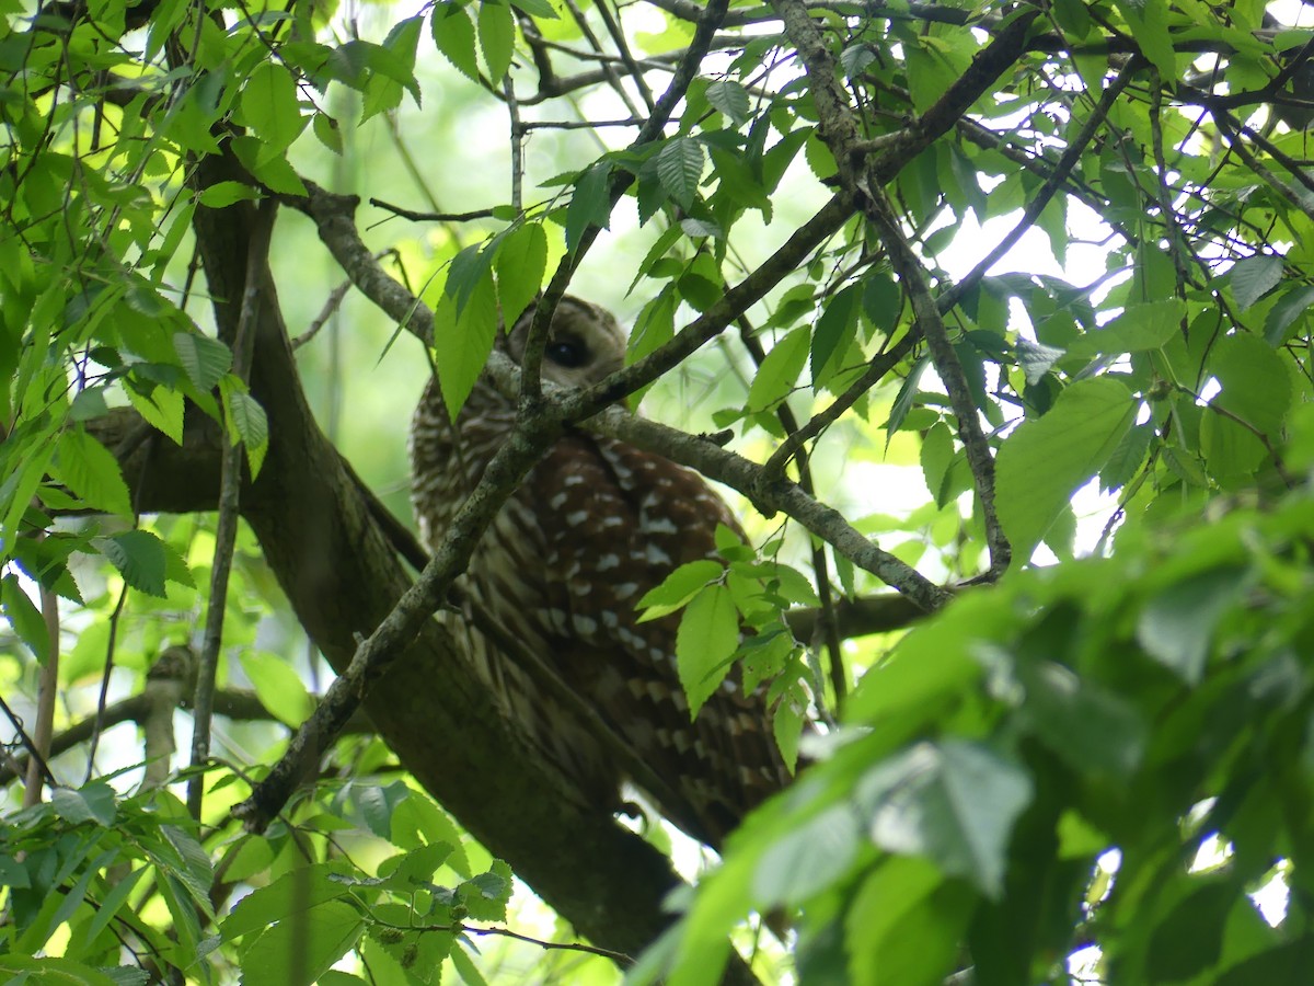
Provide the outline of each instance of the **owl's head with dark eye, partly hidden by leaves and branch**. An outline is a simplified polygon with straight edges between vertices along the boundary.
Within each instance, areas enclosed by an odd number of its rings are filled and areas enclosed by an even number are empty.
[[[507,354],[516,363],[524,356],[532,321],[531,306],[507,337]],[[620,369],[624,362],[625,331],[612,314],[582,298],[562,297],[543,352],[543,379],[562,387],[587,387]]]

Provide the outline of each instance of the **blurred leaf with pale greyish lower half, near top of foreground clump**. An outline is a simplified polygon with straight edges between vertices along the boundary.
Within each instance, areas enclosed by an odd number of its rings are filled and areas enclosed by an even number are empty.
[[[1246,569],[1221,568],[1169,585],[1137,619],[1137,640],[1188,685],[1204,677],[1214,628],[1235,606],[1248,582]]]

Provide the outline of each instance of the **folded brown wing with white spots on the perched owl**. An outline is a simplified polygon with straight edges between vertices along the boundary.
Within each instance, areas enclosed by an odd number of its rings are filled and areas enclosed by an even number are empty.
[[[714,557],[717,525],[738,525],[698,473],[582,434],[553,447],[527,492],[549,518],[543,619],[553,663],[668,781],[665,798],[649,791],[662,812],[720,845],[788,781],[765,693],[745,695],[732,672],[691,722],[675,664],[679,614],[640,623],[635,603],[678,565]]]

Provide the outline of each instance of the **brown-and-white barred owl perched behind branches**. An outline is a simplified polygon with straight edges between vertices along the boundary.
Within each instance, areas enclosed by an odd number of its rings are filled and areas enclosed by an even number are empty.
[[[499,337],[519,362],[532,310]],[[586,385],[618,369],[624,334],[607,312],[566,297],[543,376]],[[411,426],[413,501],[435,547],[515,418],[481,380],[455,426],[431,381]],[[738,530],[696,473],[624,442],[569,431],[548,450],[477,546],[459,582],[472,606],[551,672],[665,787],[645,791],[689,835],[719,847],[750,807],[788,780],[765,695],[731,676],[690,720],[675,669],[677,615],[640,623],[635,603],[677,565],[715,555],[714,532]],[[555,702],[473,614],[455,621],[503,713],[581,797],[619,807],[615,744]],[[452,623],[449,618],[449,623]],[[453,626],[453,628],[456,628]],[[635,780],[635,778],[628,778]]]

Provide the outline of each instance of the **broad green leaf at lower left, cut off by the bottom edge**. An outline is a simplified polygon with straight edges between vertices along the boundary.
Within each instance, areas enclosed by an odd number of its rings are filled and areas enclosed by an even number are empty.
[[[311,986],[350,952],[365,919],[344,901],[328,901],[279,922],[242,956],[243,986]]]

